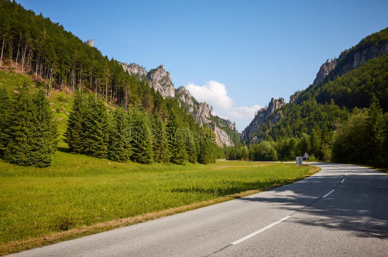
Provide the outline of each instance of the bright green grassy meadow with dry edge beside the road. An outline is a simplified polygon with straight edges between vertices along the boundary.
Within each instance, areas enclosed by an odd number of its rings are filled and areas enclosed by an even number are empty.
[[[50,167],[0,161],[0,254],[224,202],[307,177],[287,163],[117,163],[66,153]]]

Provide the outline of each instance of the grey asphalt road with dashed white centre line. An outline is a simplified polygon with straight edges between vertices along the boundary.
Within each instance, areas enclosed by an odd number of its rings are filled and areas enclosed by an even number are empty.
[[[316,165],[274,190],[16,256],[388,256],[388,176]]]

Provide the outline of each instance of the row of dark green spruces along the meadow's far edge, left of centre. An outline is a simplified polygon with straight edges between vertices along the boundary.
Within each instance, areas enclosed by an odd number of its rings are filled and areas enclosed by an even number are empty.
[[[69,114],[65,142],[74,153],[139,163],[212,163],[218,146],[213,131],[181,126],[174,108],[163,119],[141,106],[109,111],[96,94],[78,91]]]

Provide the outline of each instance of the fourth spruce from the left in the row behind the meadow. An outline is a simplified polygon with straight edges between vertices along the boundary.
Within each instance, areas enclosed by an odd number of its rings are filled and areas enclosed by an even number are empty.
[[[140,163],[153,161],[152,134],[146,112],[133,110],[132,122],[132,160]]]

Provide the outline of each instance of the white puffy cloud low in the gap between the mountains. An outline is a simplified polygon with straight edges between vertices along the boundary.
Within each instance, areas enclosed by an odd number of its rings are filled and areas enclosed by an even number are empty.
[[[200,102],[207,102],[214,108],[214,114],[223,118],[236,121],[238,126],[246,126],[253,119],[255,112],[262,107],[254,106],[235,106],[232,98],[227,95],[226,86],[220,82],[210,80],[203,86],[198,86],[193,83],[188,84],[186,88],[190,94]],[[245,124],[239,124],[241,121]]]

